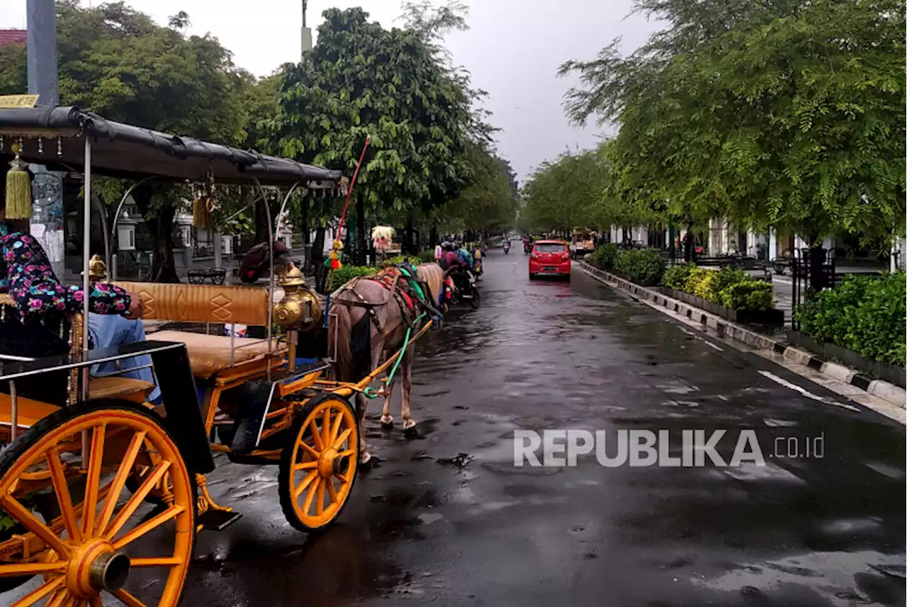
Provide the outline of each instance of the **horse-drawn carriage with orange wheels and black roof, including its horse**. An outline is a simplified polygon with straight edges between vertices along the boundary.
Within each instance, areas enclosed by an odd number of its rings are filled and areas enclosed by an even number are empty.
[[[83,174],[85,295],[82,313],[66,323],[68,355],[0,356],[0,592],[16,593],[15,607],[94,607],[110,595],[131,607],[175,605],[195,534],[239,517],[206,487],[215,452],[238,463],[277,464],[280,504],[295,528],[333,522],[366,452],[366,399],[384,396],[383,420],[390,421],[387,400],[401,363],[405,425],[413,425],[406,411],[412,343],[434,318],[414,304],[407,313],[396,283],[421,285],[425,300],[437,303],[440,268],[385,275],[395,275],[393,284],[347,285],[326,301],[295,265],[276,268],[269,245],[267,287],[119,283],[141,297],[143,318],[179,327],[151,333],[148,342],[88,350],[88,294],[103,280],[88,255],[93,173],[241,184],[262,197],[266,188],[285,188],[284,206],[300,188],[328,196],[344,190],[346,179],[73,108],[0,110],[0,157],[14,143],[24,161]],[[284,294],[275,304],[278,286]],[[377,302],[369,293],[386,295]],[[18,313],[14,304],[0,294],[2,313]],[[207,331],[226,324],[264,327],[265,337]],[[368,355],[357,363],[353,342],[363,326]],[[159,405],[147,401],[151,383],[123,377],[135,368],[89,373],[140,356],[151,359]],[[357,364],[366,371],[356,374]],[[69,386],[64,402],[17,394],[17,381],[61,373]],[[383,386],[372,389],[385,373]]]

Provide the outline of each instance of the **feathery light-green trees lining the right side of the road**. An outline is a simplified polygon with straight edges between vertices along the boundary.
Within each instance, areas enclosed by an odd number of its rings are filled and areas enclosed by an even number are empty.
[[[637,0],[667,27],[634,53],[619,40],[578,74],[566,109],[576,124],[615,123],[600,149],[543,165],[597,160],[603,175],[571,173],[561,195],[602,219],[658,217],[682,226],[729,217],[777,226],[814,246],[823,236],[907,232],[907,12],[896,0]],[[555,179],[560,180],[560,179]]]

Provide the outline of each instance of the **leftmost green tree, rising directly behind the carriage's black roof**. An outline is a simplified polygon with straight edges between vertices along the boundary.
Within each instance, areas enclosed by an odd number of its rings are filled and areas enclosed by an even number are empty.
[[[83,8],[78,0],[63,0],[56,10],[62,104],[201,140],[228,145],[248,140],[256,106],[244,101],[258,83],[236,69],[217,39],[182,34],[187,14],[174,15],[171,26],[163,27],[122,2]],[[24,61],[24,49],[0,54],[0,85],[5,90],[24,91]],[[7,74],[16,73],[21,82],[7,84]],[[99,192],[108,194],[105,202],[115,204],[122,190],[122,184],[108,181]],[[151,232],[152,279],[178,282],[173,217],[190,192],[151,182],[133,190],[132,196]]]

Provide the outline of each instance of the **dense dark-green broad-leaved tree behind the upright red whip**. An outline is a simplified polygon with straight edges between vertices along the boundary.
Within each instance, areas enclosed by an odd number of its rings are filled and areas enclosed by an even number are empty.
[[[360,8],[324,16],[316,47],[284,74],[269,149],[351,173],[371,136],[351,209],[361,261],[366,212],[409,214],[459,193],[472,99],[422,34],[385,30]]]

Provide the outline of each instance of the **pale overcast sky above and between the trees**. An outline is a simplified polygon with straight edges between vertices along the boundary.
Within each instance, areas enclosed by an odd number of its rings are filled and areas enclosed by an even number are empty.
[[[436,0],[439,2],[440,0]],[[83,5],[99,5],[82,0]],[[161,24],[171,14],[190,16],[191,34],[210,33],[234,53],[234,61],[258,75],[297,61],[301,0],[127,0]],[[489,92],[485,107],[502,129],[498,149],[524,180],[544,159],[565,149],[597,142],[594,127],[573,128],[564,117],[563,93],[571,81],[556,77],[568,59],[590,59],[615,36],[628,50],[655,29],[629,14],[630,0],[465,0],[470,30],[448,36],[454,63],[473,74],[473,85]],[[317,29],[321,13],[337,6],[363,6],[390,27],[401,24],[401,0],[309,0],[308,25]],[[25,0],[0,0],[0,28],[25,27]]]

